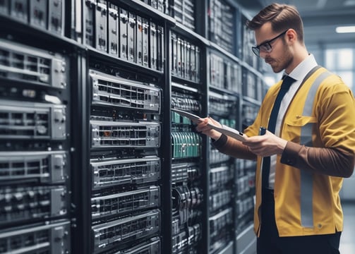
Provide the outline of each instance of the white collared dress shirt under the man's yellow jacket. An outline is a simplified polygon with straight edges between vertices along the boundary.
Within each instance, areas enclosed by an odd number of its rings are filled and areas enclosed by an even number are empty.
[[[307,73],[311,71],[315,66],[318,66],[318,63],[315,61],[313,54],[308,55],[301,63],[299,63],[294,71],[291,71],[288,75],[291,78],[294,78],[296,81],[289,87],[289,90],[284,95],[281,105],[279,107],[279,114],[277,114],[277,121],[275,126],[275,135],[279,136],[279,131],[281,128],[282,120],[284,119],[284,114],[286,113],[287,108],[291,102],[291,99],[296,94],[296,91],[299,89],[303,78],[306,77]],[[284,73],[287,75],[287,73]],[[276,166],[276,155],[270,157],[270,176],[269,176],[269,188],[273,189],[275,185],[275,166]]]

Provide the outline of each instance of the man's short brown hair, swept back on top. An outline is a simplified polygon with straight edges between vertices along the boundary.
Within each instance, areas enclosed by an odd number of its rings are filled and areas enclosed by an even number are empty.
[[[252,20],[246,21],[251,30],[257,30],[265,23],[270,22],[272,30],[284,32],[289,28],[297,32],[300,42],[303,42],[303,23],[299,11],[295,6],[287,4],[270,4],[263,8]]]

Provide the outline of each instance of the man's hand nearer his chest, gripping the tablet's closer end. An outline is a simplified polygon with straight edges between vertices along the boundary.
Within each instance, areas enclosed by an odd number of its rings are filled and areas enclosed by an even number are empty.
[[[257,135],[246,138],[243,142],[255,155],[267,157],[270,155],[280,155],[284,152],[287,140],[277,137],[277,135],[266,131],[265,135]]]

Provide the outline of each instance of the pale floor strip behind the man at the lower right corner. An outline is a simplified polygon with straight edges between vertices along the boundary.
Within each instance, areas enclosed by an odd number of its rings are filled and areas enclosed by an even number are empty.
[[[344,212],[344,231],[340,238],[340,253],[355,253],[355,201],[346,201],[342,203]]]

